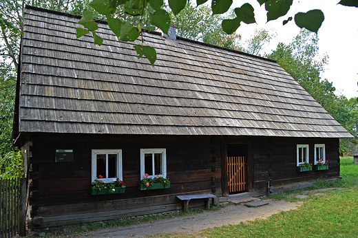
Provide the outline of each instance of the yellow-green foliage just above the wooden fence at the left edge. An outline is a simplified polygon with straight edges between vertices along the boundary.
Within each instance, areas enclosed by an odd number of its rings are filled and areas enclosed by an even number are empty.
[[[1,168],[5,167],[5,172],[0,177],[14,178],[23,175],[23,157],[21,151],[10,151],[0,161]]]

